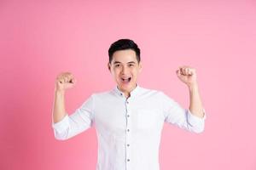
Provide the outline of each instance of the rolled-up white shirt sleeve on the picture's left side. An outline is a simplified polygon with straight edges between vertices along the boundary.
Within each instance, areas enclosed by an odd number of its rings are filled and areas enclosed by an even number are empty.
[[[91,95],[72,115],[67,114],[60,122],[52,122],[55,139],[70,139],[92,127],[93,107],[93,95]]]

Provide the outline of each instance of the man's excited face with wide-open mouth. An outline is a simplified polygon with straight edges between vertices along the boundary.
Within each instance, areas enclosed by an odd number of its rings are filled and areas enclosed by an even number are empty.
[[[108,69],[120,91],[129,96],[130,92],[137,86],[137,77],[142,70],[138,63],[136,53],[132,49],[119,50],[113,53]]]

